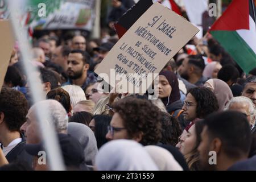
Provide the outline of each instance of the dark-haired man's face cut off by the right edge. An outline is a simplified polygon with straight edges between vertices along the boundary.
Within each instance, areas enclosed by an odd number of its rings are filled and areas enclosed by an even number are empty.
[[[242,96],[250,98],[256,106],[256,76],[248,77],[243,84]]]

